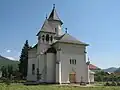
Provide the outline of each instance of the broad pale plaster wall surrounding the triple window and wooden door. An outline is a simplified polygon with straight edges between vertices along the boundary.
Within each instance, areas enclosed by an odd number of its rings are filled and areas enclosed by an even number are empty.
[[[60,44],[62,49],[62,53],[60,55],[61,58],[61,82],[68,83],[69,82],[69,73],[76,72],[76,82],[82,80],[84,82],[88,82],[88,70],[86,65],[86,56],[85,56],[85,47],[80,45],[71,45],[71,44]],[[70,59],[76,59],[76,65],[70,65]]]

